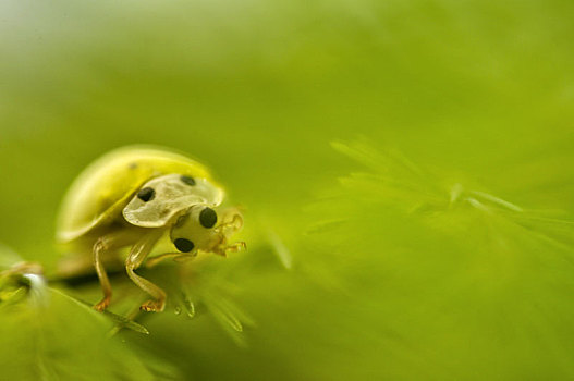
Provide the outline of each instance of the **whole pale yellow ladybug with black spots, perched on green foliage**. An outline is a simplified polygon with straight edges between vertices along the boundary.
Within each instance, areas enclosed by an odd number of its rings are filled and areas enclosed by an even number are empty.
[[[220,210],[224,196],[208,170],[183,155],[155,147],[120,148],[74,181],[62,201],[57,241],[91,259],[103,291],[94,306],[98,310],[108,307],[112,295],[105,263],[118,259],[119,249],[131,247],[127,275],[154,297],[141,309],[161,311],[166,293],[135,270],[164,235],[179,253],[166,257],[198,251],[224,256],[243,248],[242,242],[228,244],[243,226],[243,218],[235,208]]]

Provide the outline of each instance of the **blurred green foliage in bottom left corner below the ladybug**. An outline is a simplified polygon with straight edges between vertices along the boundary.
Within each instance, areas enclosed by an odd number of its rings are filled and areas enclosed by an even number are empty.
[[[112,322],[61,292],[0,314],[0,367],[17,380],[156,380],[126,343],[108,337]],[[16,355],[17,354],[17,355]]]

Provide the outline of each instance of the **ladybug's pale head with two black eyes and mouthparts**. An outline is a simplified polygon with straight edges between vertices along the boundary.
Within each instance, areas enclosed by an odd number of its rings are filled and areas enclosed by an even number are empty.
[[[236,208],[220,210],[195,205],[176,219],[170,237],[181,253],[196,255],[205,251],[224,256],[227,251],[236,251],[245,246],[245,243],[228,243],[242,226],[243,217]]]

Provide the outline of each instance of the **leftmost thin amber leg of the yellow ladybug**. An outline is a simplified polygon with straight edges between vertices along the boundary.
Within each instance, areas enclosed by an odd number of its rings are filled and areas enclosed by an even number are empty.
[[[101,284],[101,291],[103,292],[103,298],[94,306],[98,311],[102,311],[108,308],[111,300],[111,284],[103,268],[102,256],[110,250],[114,250],[124,247],[133,242],[134,235],[132,232],[119,231],[110,233],[102,237],[99,237],[94,244],[94,267],[98,274],[99,282]]]

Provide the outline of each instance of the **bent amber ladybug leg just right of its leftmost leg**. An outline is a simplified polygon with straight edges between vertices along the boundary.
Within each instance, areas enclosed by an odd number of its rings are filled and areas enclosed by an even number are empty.
[[[142,266],[162,234],[162,230],[155,230],[146,234],[146,236],[132,247],[132,250],[125,260],[127,276],[130,276],[139,288],[155,298],[154,300],[148,300],[142,305],[139,309],[144,311],[160,312],[166,307],[166,292],[134,272],[134,270]]]

